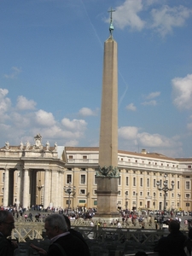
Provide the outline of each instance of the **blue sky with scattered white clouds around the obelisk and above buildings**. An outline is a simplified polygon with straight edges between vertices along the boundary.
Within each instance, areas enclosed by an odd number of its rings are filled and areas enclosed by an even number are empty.
[[[119,149],[192,157],[191,0],[1,0],[0,147],[98,146],[111,7]]]

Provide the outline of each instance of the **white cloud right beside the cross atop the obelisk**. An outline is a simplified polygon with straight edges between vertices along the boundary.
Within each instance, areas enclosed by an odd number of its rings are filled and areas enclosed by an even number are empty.
[[[138,13],[143,10],[142,0],[125,0],[121,6],[116,8],[113,14],[115,26],[124,29],[125,26],[130,26],[138,31],[143,29],[145,21],[141,20]]]

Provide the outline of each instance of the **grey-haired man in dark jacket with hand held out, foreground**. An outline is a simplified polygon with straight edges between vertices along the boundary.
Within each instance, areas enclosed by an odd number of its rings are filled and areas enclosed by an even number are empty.
[[[49,215],[45,218],[44,229],[46,230],[46,236],[48,236],[51,241],[48,252],[43,248],[31,244],[31,247],[37,250],[40,255],[89,256],[89,254],[85,252],[83,241],[71,235],[67,230],[67,223],[63,215],[55,213]]]

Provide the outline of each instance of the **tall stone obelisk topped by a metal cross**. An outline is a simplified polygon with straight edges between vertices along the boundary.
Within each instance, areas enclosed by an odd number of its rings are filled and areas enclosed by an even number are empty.
[[[110,36],[104,43],[102,109],[97,177],[96,217],[118,217],[118,64],[117,43],[113,39],[112,13]]]

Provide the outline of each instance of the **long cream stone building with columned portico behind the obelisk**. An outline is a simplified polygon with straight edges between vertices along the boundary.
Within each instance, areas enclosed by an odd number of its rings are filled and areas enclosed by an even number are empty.
[[[96,207],[99,148],[50,147],[41,135],[34,139],[34,145],[0,148],[0,205]],[[119,150],[117,208],[163,210],[164,192],[156,183],[162,187],[166,174],[168,188],[175,184],[166,192],[166,209],[191,211],[191,166],[192,158]]]

